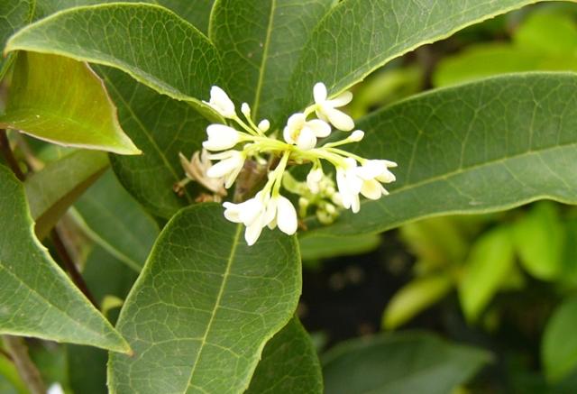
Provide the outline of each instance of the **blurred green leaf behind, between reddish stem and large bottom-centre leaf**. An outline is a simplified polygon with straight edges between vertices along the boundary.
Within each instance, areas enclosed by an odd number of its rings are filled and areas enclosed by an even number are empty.
[[[159,234],[159,227],[112,171],[78,199],[75,208],[87,233],[120,261],[140,272]]]

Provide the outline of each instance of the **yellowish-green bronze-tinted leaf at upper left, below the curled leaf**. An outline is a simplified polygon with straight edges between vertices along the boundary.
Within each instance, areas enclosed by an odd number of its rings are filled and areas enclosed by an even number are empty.
[[[102,80],[86,63],[60,56],[19,53],[0,127],[64,146],[141,152],[118,124]]]

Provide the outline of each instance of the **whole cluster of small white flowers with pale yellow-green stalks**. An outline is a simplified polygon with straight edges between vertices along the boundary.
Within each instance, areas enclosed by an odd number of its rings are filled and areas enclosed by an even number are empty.
[[[266,226],[270,229],[278,226],[285,234],[297,231],[297,210],[289,198],[280,194],[283,185],[298,194],[301,215],[307,215],[309,206],[317,206],[319,220],[330,223],[338,208],[350,208],[356,213],[361,207],[359,195],[378,199],[388,194],[382,183],[395,180],[389,170],[397,166],[393,161],[368,160],[338,148],[346,143],[359,142],[364,136],[360,130],[353,131],[353,119],[338,109],[347,105],[353,95],[344,92],[329,99],[325,85],[317,83],[313,96],[313,105],[289,117],[282,129],[284,141],[281,141],[276,138],[276,133],[267,135],[270,129],[268,120],[255,123],[248,104],[241,105],[241,118],[223,89],[212,87],[210,91],[210,101],[206,104],[223,116],[228,124],[210,124],[206,128],[204,151],[197,153],[197,165],[193,166],[196,170],[188,168],[188,178],[197,179],[206,188],[224,196],[222,186],[230,188],[247,162],[267,164],[264,186],[254,197],[240,203],[223,204],[224,216],[228,220],[246,226],[244,237],[249,245],[257,241]],[[353,132],[342,140],[319,146],[318,140],[328,137],[334,129]],[[188,160],[182,160],[183,165],[189,167]],[[206,166],[206,160],[215,162]],[[325,174],[323,163],[334,166],[338,190],[332,176]],[[287,169],[294,164],[312,164],[306,181],[298,182],[289,175]],[[203,173],[198,174],[199,170]]]

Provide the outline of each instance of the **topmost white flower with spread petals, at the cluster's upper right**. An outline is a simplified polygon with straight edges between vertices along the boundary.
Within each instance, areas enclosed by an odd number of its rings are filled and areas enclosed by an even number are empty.
[[[332,100],[327,100],[325,84],[319,82],[313,87],[313,96],[315,97],[316,116],[318,116],[319,119],[333,124],[335,128],[343,130],[344,132],[353,130],[353,118],[335,109],[351,102],[353,99],[351,92],[343,92]]]

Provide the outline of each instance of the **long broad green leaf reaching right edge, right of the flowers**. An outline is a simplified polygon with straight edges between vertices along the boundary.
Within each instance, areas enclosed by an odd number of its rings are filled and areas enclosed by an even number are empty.
[[[533,73],[445,88],[359,122],[351,149],[398,162],[390,195],[321,234],[369,234],[426,216],[577,202],[577,76]],[[355,146],[356,145],[356,146]],[[309,228],[314,227],[309,223]]]

